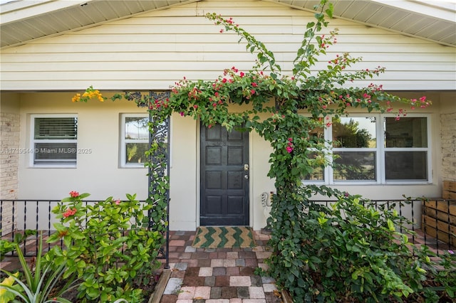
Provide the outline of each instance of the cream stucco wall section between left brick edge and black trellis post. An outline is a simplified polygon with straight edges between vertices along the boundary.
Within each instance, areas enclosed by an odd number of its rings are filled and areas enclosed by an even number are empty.
[[[78,154],[76,168],[30,166],[30,154],[19,157],[21,199],[68,196],[70,191],[92,193],[91,199],[125,198],[125,193],[147,197],[147,169],[121,169],[119,165],[120,113],[143,112],[133,102],[71,102],[71,93],[26,93],[21,95],[21,147],[30,147],[30,115],[77,114]]]

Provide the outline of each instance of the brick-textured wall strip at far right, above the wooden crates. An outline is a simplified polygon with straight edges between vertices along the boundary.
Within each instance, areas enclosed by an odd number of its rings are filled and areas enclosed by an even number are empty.
[[[440,115],[442,126],[442,180],[456,181],[456,112]]]

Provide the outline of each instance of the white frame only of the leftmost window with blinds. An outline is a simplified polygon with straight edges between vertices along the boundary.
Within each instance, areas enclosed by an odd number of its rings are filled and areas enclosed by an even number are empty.
[[[76,153],[76,163],[75,164],[59,164],[56,162],[56,164],[35,164],[35,143],[48,143],[48,142],[55,142],[55,143],[76,143],[78,144],[78,139],[60,139],[60,140],[51,140],[51,139],[41,139],[41,140],[36,140],[35,139],[35,118],[66,118],[66,117],[76,117],[78,118],[78,115],[76,114],[31,114],[30,115],[30,149],[33,151],[30,153],[29,157],[29,162],[28,166],[31,168],[38,168],[38,169],[46,169],[46,168],[51,168],[51,169],[72,169],[76,168],[78,164],[78,153]],[[77,137],[79,138],[79,127],[78,127],[78,134]]]

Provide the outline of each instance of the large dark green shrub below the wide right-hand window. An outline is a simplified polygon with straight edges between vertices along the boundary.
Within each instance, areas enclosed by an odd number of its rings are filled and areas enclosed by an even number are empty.
[[[336,194],[338,201],[312,203],[309,198],[316,192]],[[325,186],[303,188],[302,194],[301,214],[291,211],[293,216],[287,217],[286,206],[281,208],[286,238],[283,233],[274,236],[278,220],[271,220],[276,250],[269,260],[270,274],[296,302],[437,302],[432,298],[455,297],[454,255],[446,254],[435,270],[429,250],[408,242],[412,232],[395,204],[375,205]],[[428,287],[429,280],[439,287]]]

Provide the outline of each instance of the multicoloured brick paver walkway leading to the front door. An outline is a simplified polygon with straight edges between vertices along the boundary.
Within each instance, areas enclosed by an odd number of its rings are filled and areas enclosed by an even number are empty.
[[[195,232],[170,232],[170,269],[162,303],[277,303],[270,277],[255,275],[266,269],[268,235],[255,233],[255,248],[192,248]],[[275,291],[275,292],[274,292]]]

